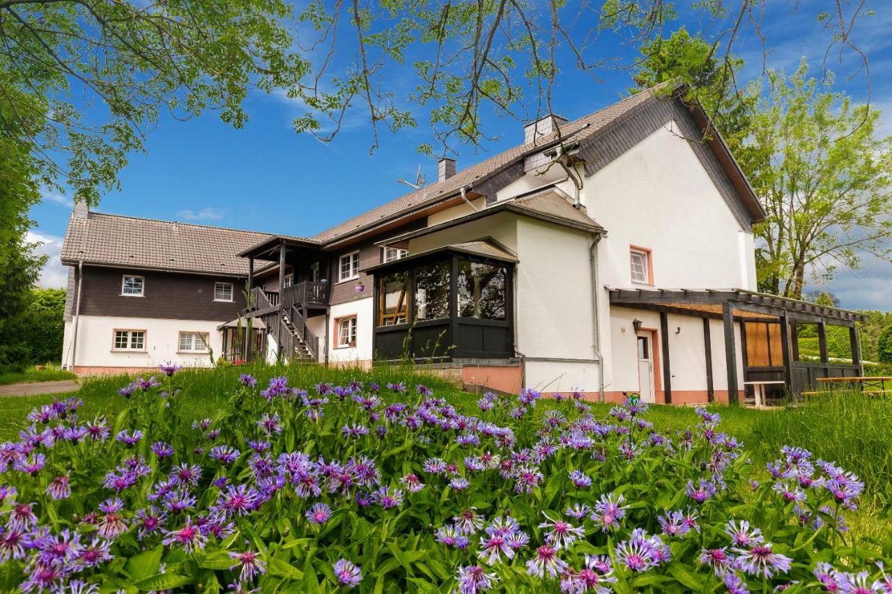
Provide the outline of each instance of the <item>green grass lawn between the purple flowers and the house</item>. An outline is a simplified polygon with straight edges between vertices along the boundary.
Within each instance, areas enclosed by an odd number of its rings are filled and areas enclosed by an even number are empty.
[[[178,374],[178,384],[183,386],[183,399],[187,414],[194,418],[212,417],[237,384],[238,375],[252,373],[260,384],[271,377],[286,375],[289,384],[310,388],[318,382],[346,384],[351,379],[376,382],[382,386],[388,382],[402,382],[414,387],[429,386],[437,396],[450,401],[467,414],[478,413],[477,396],[459,391],[442,379],[421,375],[416,371],[397,367],[381,367],[366,373],[355,369],[336,369],[318,366],[292,367],[228,367],[214,371],[185,369]],[[85,378],[78,392],[84,400],[80,417],[96,415],[113,418],[122,408],[124,400],[118,389],[127,384],[127,376]],[[12,440],[28,425],[26,416],[31,408],[52,402],[54,396],[23,396],[0,400],[0,440]],[[604,417],[609,404],[592,404],[592,413]],[[549,400],[542,400],[536,414],[541,416],[549,409]],[[892,503],[892,447],[889,429],[892,426],[892,401],[871,399],[857,393],[835,393],[809,400],[798,408],[756,410],[753,408],[714,405],[712,410],[722,416],[720,430],[734,435],[746,445],[749,458],[756,467],[763,469],[764,480],[769,474],[768,462],[780,457],[784,445],[797,445],[814,452],[814,458],[838,463],[853,471],[866,483],[861,509],[847,514],[852,533],[858,537],[871,537],[882,532],[892,535],[892,520],[888,517]],[[646,417],[657,429],[681,429],[698,422],[693,408],[652,407]]]

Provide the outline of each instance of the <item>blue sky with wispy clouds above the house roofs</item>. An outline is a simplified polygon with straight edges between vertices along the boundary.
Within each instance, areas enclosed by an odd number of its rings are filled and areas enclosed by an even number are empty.
[[[772,3],[769,3],[772,4]],[[807,4],[831,3],[813,0]],[[892,11],[876,4],[880,14],[866,19],[856,29],[857,41],[867,51],[871,63],[872,103],[884,111],[884,120],[892,124]],[[767,65],[792,70],[801,56],[814,69],[827,45],[822,26],[814,13],[800,8],[791,14],[785,2],[772,4],[764,31],[770,50]],[[698,22],[682,15],[676,25],[689,31]],[[706,35],[720,30],[712,25]],[[744,78],[757,76],[762,69],[762,53],[752,35],[744,40],[739,54],[747,58]],[[606,38],[597,45],[600,52],[628,61],[634,50]],[[851,62],[831,63],[840,74],[851,73]],[[816,71],[816,70],[815,70]],[[627,70],[602,70],[603,79],[570,72],[559,80],[552,103],[561,115],[572,119],[615,102],[631,84]],[[393,86],[409,88],[410,78],[397,72]],[[839,76],[836,87],[855,99],[863,100],[867,85],[863,76],[846,79]],[[347,127],[330,144],[310,135],[298,135],[291,127],[301,114],[301,104],[282,94],[254,93],[245,107],[250,114],[243,129],[236,130],[221,122],[214,113],[186,122],[164,118],[148,138],[146,153],[132,154],[128,167],[120,175],[120,192],[103,196],[97,210],[153,219],[180,220],[220,227],[245,228],[288,235],[314,235],[343,219],[350,218],[409,190],[396,180],[414,179],[421,165],[428,179],[436,178],[434,160],[415,152],[418,144],[433,142],[417,111],[418,128],[395,134],[382,131],[380,148],[369,154],[372,136],[368,118],[360,111],[349,115]],[[518,144],[523,138],[522,123],[510,118],[486,114],[487,132],[496,139],[482,148],[460,147],[458,169],[481,161]],[[892,133],[887,125],[885,134]],[[43,284],[61,286],[65,270],[58,261],[70,199],[60,194],[45,194],[43,203],[31,211],[37,221],[33,234],[44,241],[50,254]],[[842,271],[824,288],[836,293],[848,308],[892,309],[888,286],[892,285],[892,265],[866,259],[863,270]]]

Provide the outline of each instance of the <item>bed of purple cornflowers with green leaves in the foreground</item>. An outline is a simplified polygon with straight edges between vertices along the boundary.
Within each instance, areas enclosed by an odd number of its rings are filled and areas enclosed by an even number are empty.
[[[243,375],[225,407],[191,419],[176,367],[162,368],[161,383],[120,390],[113,420],[78,419],[81,403],[63,400],[0,447],[12,470],[4,590],[767,591],[886,579],[840,517],[863,488],[854,474],[788,447],[757,483],[706,410],[663,434],[634,400],[605,418],[574,399],[534,416],[538,392],[488,393],[467,417],[425,386],[305,391],[276,378],[260,390]]]

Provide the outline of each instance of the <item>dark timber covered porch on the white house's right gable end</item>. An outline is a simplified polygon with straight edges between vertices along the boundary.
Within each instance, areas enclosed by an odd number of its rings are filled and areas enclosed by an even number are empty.
[[[670,349],[670,315],[704,320],[703,384],[709,402],[715,400],[714,376],[720,373],[727,375],[728,401],[732,404],[755,396],[756,391],[764,391],[769,398],[797,398],[802,392],[813,392],[820,378],[863,373],[861,342],[855,326],[863,317],[854,311],[741,289],[610,289],[609,296],[611,306],[658,313],[660,380],[666,403],[673,401],[672,367],[684,365],[683,360],[673,359]],[[712,344],[719,341],[712,338],[710,320],[722,322],[724,369],[713,369]],[[806,335],[816,339],[814,356],[800,348]],[[829,335],[835,342],[847,342],[849,356],[830,358]],[[688,351],[684,356],[690,355]],[[740,392],[744,392],[742,397]]]

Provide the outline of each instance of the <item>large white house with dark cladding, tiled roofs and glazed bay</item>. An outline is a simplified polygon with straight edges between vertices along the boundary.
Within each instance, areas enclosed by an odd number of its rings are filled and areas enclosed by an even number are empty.
[[[144,354],[201,363],[170,347],[185,326],[169,318],[188,315],[229,358],[413,359],[505,392],[737,401],[747,382],[799,392],[819,376],[859,373],[857,314],[756,293],[752,228],[764,210],[703,111],[671,91],[645,91],[580,120],[533,122],[523,144],[467,169],[443,159],[436,183],[313,237],[226,231],[244,235],[229,235],[226,247],[195,245],[202,257],[187,269],[173,239],[147,245],[147,258],[131,229],[129,243],[111,249],[118,235],[92,222],[108,215],[80,213],[62,253],[70,288],[102,286],[76,268],[113,266],[117,278],[151,260],[166,275],[155,285],[188,278],[192,295],[232,273],[252,303],[211,315],[207,300],[170,302],[167,311],[179,313],[152,318],[128,314],[138,301],[119,296],[108,312],[87,313],[76,295],[90,289],[70,291],[69,365],[118,367],[120,353],[103,342],[119,326],[145,332]],[[220,233],[150,224],[155,235]],[[85,256],[85,237],[113,257]],[[218,268],[202,269],[211,261]],[[800,360],[797,325],[817,324],[825,344],[830,323],[851,328],[852,362],[830,363],[826,352]]]

